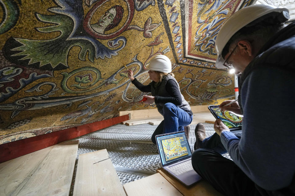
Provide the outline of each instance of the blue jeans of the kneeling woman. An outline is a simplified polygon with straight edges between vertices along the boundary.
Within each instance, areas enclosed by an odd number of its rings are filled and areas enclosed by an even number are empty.
[[[172,103],[167,103],[163,107],[164,120],[158,125],[151,136],[151,141],[156,144],[156,135],[183,131],[184,126],[191,124],[193,116],[180,107]]]

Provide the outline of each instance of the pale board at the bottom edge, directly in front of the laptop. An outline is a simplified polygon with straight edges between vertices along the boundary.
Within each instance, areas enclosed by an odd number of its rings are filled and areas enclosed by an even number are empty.
[[[128,196],[183,196],[159,173],[124,184],[123,186]]]

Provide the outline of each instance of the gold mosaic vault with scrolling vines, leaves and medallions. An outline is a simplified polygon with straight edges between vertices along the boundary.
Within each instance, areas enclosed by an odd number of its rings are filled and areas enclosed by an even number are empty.
[[[250,1],[0,0],[0,144],[150,109],[127,66],[148,84],[157,54],[192,106],[234,98],[214,66],[226,17]]]

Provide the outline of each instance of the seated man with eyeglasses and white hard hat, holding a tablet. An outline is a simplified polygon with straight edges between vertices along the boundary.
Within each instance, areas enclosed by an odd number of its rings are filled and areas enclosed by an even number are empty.
[[[244,115],[242,136],[218,119],[205,138],[199,123],[192,165],[224,195],[295,195],[295,22],[288,19],[285,8],[248,6],[218,32],[216,67],[242,73],[238,102],[220,107]]]

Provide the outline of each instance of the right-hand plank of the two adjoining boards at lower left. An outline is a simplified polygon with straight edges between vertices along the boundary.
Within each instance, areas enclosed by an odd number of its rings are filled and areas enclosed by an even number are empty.
[[[53,146],[18,195],[69,195],[79,141]]]

